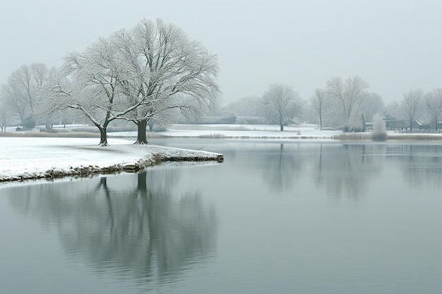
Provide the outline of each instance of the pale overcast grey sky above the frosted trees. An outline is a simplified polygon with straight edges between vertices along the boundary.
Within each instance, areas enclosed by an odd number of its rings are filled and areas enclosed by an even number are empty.
[[[442,87],[441,16],[438,0],[8,0],[0,83],[22,64],[59,66],[97,37],[162,18],[218,54],[225,103],[273,82],[309,99],[336,75],[361,76],[388,103],[410,88]]]

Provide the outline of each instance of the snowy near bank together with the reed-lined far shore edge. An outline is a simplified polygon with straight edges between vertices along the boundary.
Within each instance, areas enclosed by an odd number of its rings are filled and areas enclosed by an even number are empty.
[[[297,135],[269,136],[247,132],[241,136],[228,136],[210,132],[209,134],[155,135],[150,139],[219,139],[219,140],[287,140],[292,142],[427,142],[442,141],[441,134],[427,133],[388,133],[386,140],[371,140],[371,133],[340,133],[316,136]],[[258,133],[258,132],[257,132]],[[291,133],[291,132],[290,132]],[[97,137],[77,137],[76,133],[66,133],[57,137],[40,134],[0,135],[0,183],[22,182],[55,178],[85,178],[99,174],[138,172],[150,166],[168,161],[213,161],[221,163],[222,154],[205,152],[199,149],[177,149],[157,145],[134,145],[131,136],[109,134],[109,146],[97,145]],[[148,139],[149,140],[149,139]]]

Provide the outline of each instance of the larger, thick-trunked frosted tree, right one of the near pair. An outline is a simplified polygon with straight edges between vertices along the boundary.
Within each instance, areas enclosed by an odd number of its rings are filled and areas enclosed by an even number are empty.
[[[217,56],[177,25],[142,20],[119,37],[121,58],[126,60],[122,85],[136,106],[120,117],[138,126],[137,143],[147,143],[150,119],[167,123],[174,109],[197,117],[201,106],[217,103]]]

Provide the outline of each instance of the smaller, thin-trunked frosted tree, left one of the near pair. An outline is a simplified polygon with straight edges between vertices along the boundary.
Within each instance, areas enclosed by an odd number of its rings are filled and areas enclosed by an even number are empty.
[[[50,113],[73,109],[100,130],[100,145],[107,145],[107,126],[131,111],[121,90],[126,61],[121,59],[115,35],[99,38],[83,52],[73,51],[46,87],[43,99]]]

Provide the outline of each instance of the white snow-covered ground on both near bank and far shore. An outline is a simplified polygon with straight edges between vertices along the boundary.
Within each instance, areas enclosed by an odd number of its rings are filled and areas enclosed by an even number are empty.
[[[15,131],[15,128],[8,131]],[[165,137],[314,141],[333,140],[336,135],[342,135],[342,131],[321,131],[313,125],[287,126],[283,132],[280,132],[277,125],[172,125],[159,134]],[[0,137],[0,182],[121,171],[128,167],[155,164],[154,161],[159,157],[164,160],[174,157],[184,160],[218,160],[221,156],[199,150],[133,145],[136,131],[108,135],[108,147],[99,147],[98,138]],[[388,133],[388,137],[393,140],[422,140],[423,136],[430,140],[433,137],[434,140],[442,140],[439,133]]]

